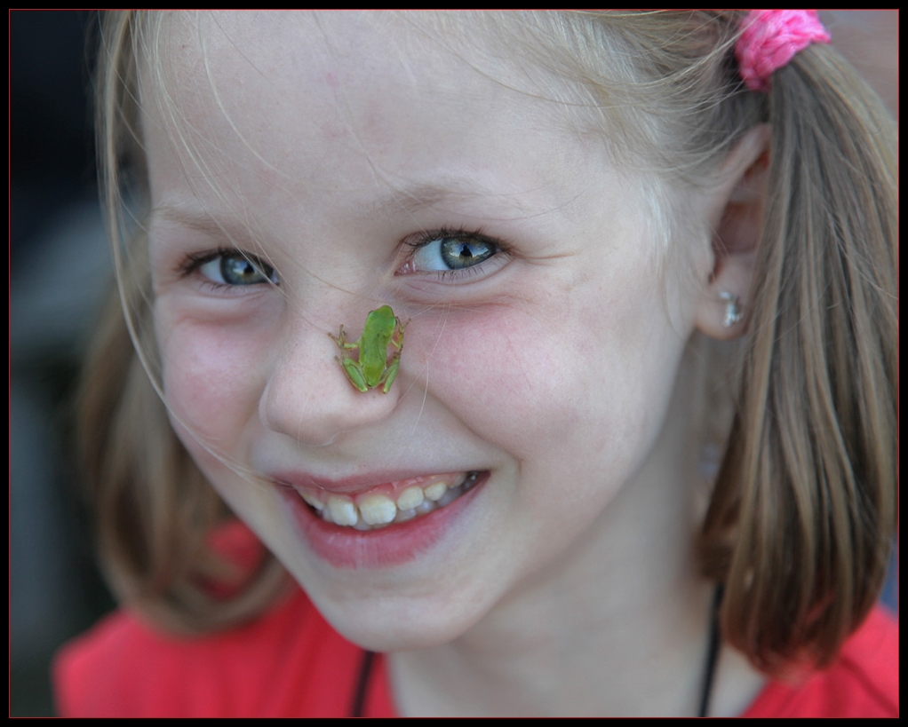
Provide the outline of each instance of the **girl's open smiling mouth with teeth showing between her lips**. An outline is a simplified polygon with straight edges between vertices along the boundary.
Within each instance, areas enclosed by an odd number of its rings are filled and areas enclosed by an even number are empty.
[[[304,490],[302,499],[327,523],[355,530],[378,530],[429,515],[449,505],[476,485],[483,472],[414,477],[383,491],[358,496]]]

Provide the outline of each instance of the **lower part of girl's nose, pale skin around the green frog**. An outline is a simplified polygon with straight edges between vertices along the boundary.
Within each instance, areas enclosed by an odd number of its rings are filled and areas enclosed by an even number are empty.
[[[359,319],[365,318],[362,313]],[[285,336],[272,359],[259,402],[259,416],[265,427],[301,444],[321,446],[345,432],[380,423],[390,416],[403,390],[400,372],[387,394],[382,393],[382,386],[361,392],[354,388],[337,360],[344,357],[331,338],[337,330],[319,329],[304,320],[290,328],[290,335]],[[355,341],[361,326],[345,333],[348,341]],[[356,359],[358,351],[350,349],[348,355]]]

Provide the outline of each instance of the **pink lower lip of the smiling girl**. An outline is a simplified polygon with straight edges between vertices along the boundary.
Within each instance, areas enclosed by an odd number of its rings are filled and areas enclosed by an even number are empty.
[[[321,560],[336,568],[390,568],[410,563],[438,543],[455,525],[460,514],[469,507],[489,476],[489,470],[483,471],[476,484],[449,505],[433,510],[428,515],[378,530],[355,530],[352,527],[326,523],[303,502],[295,488],[278,486],[278,491],[287,505],[289,516],[311,551]],[[397,474],[395,477],[403,478]],[[361,482],[365,480],[354,479],[360,481],[359,488],[362,489]],[[379,478],[370,476],[369,481],[375,483],[377,479],[381,481],[383,476]],[[352,481],[344,480],[343,483],[349,484]],[[313,482],[314,480],[307,478],[306,486],[313,486]],[[332,481],[332,485],[336,484],[337,481]],[[356,488],[331,491],[349,493],[355,490]]]

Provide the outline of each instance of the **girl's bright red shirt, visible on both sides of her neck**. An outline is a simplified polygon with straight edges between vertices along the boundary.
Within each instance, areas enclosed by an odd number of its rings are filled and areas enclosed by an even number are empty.
[[[346,717],[363,651],[301,590],[262,618],[181,638],[121,611],[67,644],[54,663],[66,717]],[[745,717],[898,717],[898,624],[878,608],[834,665],[804,683],[769,683]],[[363,714],[395,716],[383,657]]]

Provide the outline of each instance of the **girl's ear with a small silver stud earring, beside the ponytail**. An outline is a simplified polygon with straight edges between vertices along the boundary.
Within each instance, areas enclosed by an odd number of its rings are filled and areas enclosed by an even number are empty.
[[[737,142],[722,166],[710,205],[713,270],[697,308],[696,328],[715,339],[735,339],[747,328],[763,228],[769,138],[764,123]]]

